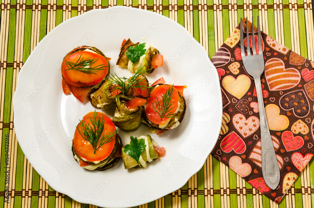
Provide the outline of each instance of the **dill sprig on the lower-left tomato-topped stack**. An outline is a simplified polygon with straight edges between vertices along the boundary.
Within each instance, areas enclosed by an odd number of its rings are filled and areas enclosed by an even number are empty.
[[[88,124],[79,120],[80,121],[79,124],[81,124],[82,130],[78,130],[78,132],[86,141],[88,141],[93,146],[94,154],[95,154],[96,150],[98,150],[100,146],[108,142],[111,142],[112,140],[115,139],[113,138],[113,136],[116,135],[117,131],[111,130],[110,133],[106,135],[103,134],[101,136],[105,127],[105,121],[101,119],[100,115],[96,113],[96,110],[93,114],[93,117],[92,118],[89,117],[89,119],[90,119],[90,123]],[[78,128],[78,126],[76,128]],[[100,143],[97,146],[98,140],[100,140]]]

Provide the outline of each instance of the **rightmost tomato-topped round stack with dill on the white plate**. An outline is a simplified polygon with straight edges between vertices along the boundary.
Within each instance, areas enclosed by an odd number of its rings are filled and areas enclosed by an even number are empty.
[[[183,97],[184,86],[164,84],[160,78],[152,84],[150,97],[143,109],[144,122],[154,128],[157,134],[176,128],[183,120],[186,101]]]

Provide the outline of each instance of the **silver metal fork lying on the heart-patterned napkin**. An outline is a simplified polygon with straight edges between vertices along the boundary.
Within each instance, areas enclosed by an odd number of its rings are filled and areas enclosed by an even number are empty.
[[[247,17],[246,17],[247,21]],[[247,22],[248,23],[248,22]],[[252,17],[252,55],[249,43],[249,26],[246,24],[246,45],[247,45],[247,56],[244,51],[244,41],[243,41],[243,22],[241,18],[241,56],[244,68],[246,72],[253,76],[257,100],[258,109],[260,117],[260,128],[261,128],[261,148],[262,148],[262,172],[266,184],[271,189],[276,189],[280,180],[280,170],[277,162],[277,157],[273,147],[273,142],[270,136],[267,118],[265,114],[264,101],[262,96],[262,86],[261,86],[261,74],[264,71],[265,63],[264,56],[262,52],[262,41],[261,41],[261,30],[259,26],[259,18],[257,16],[257,33],[258,33],[258,54],[255,47],[255,32]],[[254,52],[255,51],[255,52]]]

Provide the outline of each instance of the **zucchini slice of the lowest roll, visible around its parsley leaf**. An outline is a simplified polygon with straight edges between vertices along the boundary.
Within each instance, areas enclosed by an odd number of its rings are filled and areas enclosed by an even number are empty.
[[[150,161],[156,159],[158,157],[158,154],[154,150],[154,146],[152,144],[153,139],[151,138],[151,136],[149,134],[146,136],[140,136],[138,138],[138,140],[140,140],[140,139],[144,139],[145,145],[146,145],[146,148],[143,150],[143,152],[141,154],[143,160],[145,162],[148,162],[148,161],[150,162]],[[121,148],[121,152],[122,152],[122,160],[123,160],[125,169],[129,169],[129,168],[138,166],[138,163],[136,162],[136,160],[124,152],[124,147]]]

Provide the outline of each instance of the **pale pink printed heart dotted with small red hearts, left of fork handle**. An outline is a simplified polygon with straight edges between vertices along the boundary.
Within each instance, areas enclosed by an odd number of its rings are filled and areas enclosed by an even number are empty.
[[[241,113],[236,114],[232,118],[232,123],[244,138],[252,135],[259,128],[259,119],[256,116],[246,119]]]

